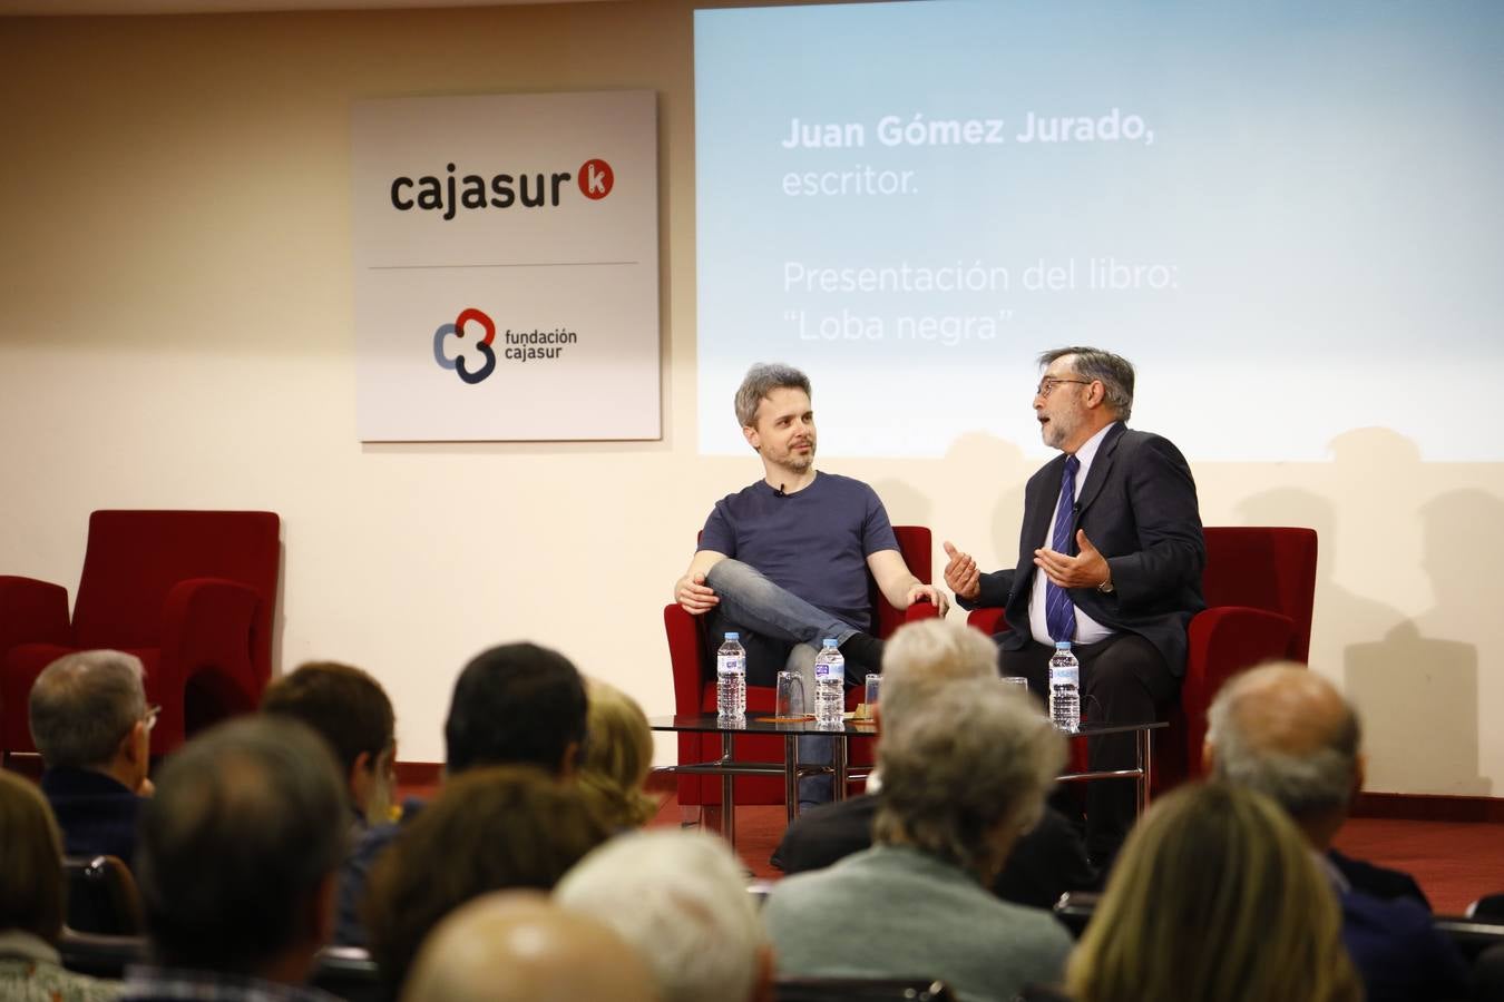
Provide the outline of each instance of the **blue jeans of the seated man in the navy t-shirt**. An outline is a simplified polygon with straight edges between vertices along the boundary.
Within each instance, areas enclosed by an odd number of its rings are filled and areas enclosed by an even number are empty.
[[[805,699],[815,697],[815,653],[820,641],[835,637],[845,643],[857,632],[850,623],[811,605],[793,592],[767,580],[761,571],[741,560],[725,559],[710,568],[705,584],[720,598],[717,614],[711,619],[717,634],[711,638],[719,646],[719,629],[747,629],[761,637],[782,641],[788,646],[784,669],[799,672],[805,679]],[[743,643],[746,638],[743,638]],[[749,661],[752,650],[749,649]],[[818,735],[799,739],[799,760],[806,765],[830,765],[835,738]],[[829,775],[806,775],[799,780],[800,807],[826,804],[832,795]]]

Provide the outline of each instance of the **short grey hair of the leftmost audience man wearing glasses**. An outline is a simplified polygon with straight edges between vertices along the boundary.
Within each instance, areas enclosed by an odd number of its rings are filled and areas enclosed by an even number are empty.
[[[78,650],[36,678],[32,741],[50,769],[99,769],[146,717],[141,659],[120,650]]]

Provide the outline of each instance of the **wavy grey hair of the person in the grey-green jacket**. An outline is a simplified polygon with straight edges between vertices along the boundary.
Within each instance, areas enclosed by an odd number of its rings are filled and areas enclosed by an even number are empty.
[[[883,732],[872,835],[984,879],[1002,868],[997,829],[1038,820],[1065,739],[1024,693],[996,679],[952,682]]]

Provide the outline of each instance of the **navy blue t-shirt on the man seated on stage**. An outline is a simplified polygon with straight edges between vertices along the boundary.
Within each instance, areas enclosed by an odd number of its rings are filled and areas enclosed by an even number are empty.
[[[735,557],[811,605],[871,629],[866,557],[896,550],[898,536],[877,491],[850,476],[817,473],[796,494],[758,481],[720,499],[699,548]]]

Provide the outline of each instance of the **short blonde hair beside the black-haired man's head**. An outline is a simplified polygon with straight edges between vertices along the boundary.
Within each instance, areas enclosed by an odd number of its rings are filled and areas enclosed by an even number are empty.
[[[635,699],[600,679],[588,681],[587,700],[579,787],[612,828],[645,825],[657,813],[642,790],[653,768],[648,718]]]

